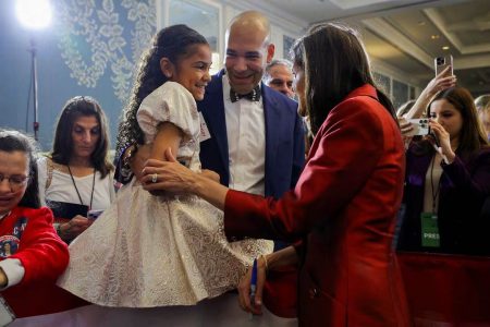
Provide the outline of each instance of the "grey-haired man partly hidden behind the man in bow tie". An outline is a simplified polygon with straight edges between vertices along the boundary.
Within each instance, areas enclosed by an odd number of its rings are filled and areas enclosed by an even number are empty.
[[[293,64],[285,59],[274,59],[264,73],[264,83],[282,93],[289,98],[294,98],[293,90]]]

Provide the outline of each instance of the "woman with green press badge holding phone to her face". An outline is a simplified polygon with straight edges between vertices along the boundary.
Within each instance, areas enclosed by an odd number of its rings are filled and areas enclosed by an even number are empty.
[[[450,87],[428,110],[431,134],[407,150],[399,249],[489,254],[488,231],[478,217],[490,194],[490,148],[473,97]]]

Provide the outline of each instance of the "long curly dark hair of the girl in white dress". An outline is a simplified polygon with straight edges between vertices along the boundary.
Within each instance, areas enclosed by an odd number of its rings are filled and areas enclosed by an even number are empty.
[[[169,26],[155,35],[152,47],[142,57],[131,100],[122,113],[118,133],[118,157],[127,146],[144,143],[136,113],[143,99],[168,81],[161,71],[160,60],[168,58],[176,65],[179,60],[194,53],[192,46],[207,44],[203,35],[186,25]]]

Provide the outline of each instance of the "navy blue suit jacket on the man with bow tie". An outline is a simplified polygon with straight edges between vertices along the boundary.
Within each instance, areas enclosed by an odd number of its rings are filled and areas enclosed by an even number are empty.
[[[226,121],[222,76],[212,76],[204,100],[197,108],[208,126],[211,138],[200,143],[203,168],[220,174],[221,184],[230,181]],[[305,161],[305,141],[297,104],[279,92],[261,84],[266,124],[266,195],[280,197],[294,187]]]

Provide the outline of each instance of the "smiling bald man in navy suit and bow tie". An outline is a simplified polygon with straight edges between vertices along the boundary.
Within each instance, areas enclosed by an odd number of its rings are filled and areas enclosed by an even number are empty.
[[[269,21],[255,11],[230,23],[225,69],[197,104],[206,124],[200,160],[225,186],[280,197],[303,167],[304,131],[297,104],[261,83],[274,55],[269,35]]]

